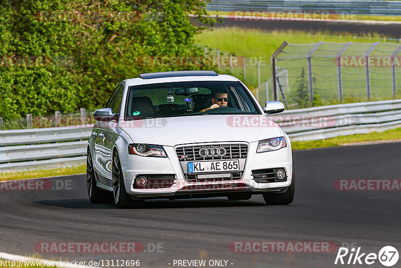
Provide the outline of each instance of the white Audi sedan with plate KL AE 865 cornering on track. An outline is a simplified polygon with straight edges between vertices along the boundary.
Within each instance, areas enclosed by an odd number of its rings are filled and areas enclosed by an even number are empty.
[[[134,207],[145,199],[262,194],[290,204],[295,175],[288,136],[231,75],[214,71],[146,73],[122,81],[96,110],[88,142],[92,203]]]

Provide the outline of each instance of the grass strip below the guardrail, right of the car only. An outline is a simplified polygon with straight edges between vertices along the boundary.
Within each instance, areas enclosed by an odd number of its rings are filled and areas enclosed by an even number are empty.
[[[351,144],[358,142],[381,141],[381,140],[398,140],[401,139],[401,127],[385,130],[382,132],[371,132],[367,134],[355,134],[349,136],[339,136],[335,138],[307,141],[307,142],[291,142],[293,150],[305,150],[323,147],[341,146],[343,144]]]

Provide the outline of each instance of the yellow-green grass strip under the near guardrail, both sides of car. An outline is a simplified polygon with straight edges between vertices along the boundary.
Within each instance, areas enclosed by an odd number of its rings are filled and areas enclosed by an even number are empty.
[[[308,141],[308,142],[293,141],[291,142],[291,147],[292,150],[305,150],[305,149],[341,146],[342,144],[357,143],[357,142],[397,140],[400,138],[401,138],[401,127],[389,129],[383,132],[371,132],[368,134],[340,136],[326,140]],[[61,168],[61,169],[36,170],[36,171],[25,171],[25,172],[3,173],[3,174],[0,173],[0,181],[73,175],[85,172],[86,172],[86,165]]]

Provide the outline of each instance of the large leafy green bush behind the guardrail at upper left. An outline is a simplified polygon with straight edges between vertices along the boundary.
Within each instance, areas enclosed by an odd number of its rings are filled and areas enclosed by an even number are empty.
[[[205,6],[202,0],[3,1],[0,117],[95,109],[121,80],[142,72],[210,69],[146,66],[141,61],[143,56],[202,55],[193,37],[205,27],[194,25],[187,15],[213,25],[215,20],[203,16]],[[88,17],[68,21],[57,16],[78,10]],[[116,20],[117,11],[134,16]],[[101,20],[109,12],[114,17]]]

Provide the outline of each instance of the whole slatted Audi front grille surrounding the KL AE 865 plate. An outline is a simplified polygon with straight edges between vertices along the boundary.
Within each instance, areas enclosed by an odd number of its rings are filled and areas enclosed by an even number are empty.
[[[202,148],[215,148],[223,147],[226,149],[226,155],[221,157],[201,157],[199,156],[199,150]],[[237,181],[241,180],[244,174],[245,161],[248,156],[248,145],[246,144],[207,144],[207,145],[196,145],[196,146],[182,146],[175,149],[178,160],[181,164],[184,178],[187,182],[226,182],[226,181]],[[191,161],[208,161],[208,160],[230,160],[240,159],[244,161],[243,168],[240,171],[231,172],[230,177],[216,177],[216,178],[197,178],[196,174],[187,173],[187,163]],[[243,159],[243,160],[241,160]],[[241,166],[241,165],[240,165]],[[225,173],[227,174],[227,173]]]

